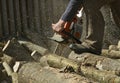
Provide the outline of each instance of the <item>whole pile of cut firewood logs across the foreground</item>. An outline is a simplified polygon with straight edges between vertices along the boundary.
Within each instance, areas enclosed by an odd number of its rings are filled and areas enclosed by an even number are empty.
[[[90,53],[58,56],[29,41],[1,43],[1,83],[120,83],[120,42]]]

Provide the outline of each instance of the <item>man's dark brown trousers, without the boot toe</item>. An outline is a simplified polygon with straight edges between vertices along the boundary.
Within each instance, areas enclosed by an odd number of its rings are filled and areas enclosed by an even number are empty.
[[[100,12],[100,8],[106,4],[110,5],[114,20],[120,27],[120,0],[85,0],[83,3],[87,20],[87,35],[83,45],[98,51],[101,51],[102,49],[105,27],[104,18]]]

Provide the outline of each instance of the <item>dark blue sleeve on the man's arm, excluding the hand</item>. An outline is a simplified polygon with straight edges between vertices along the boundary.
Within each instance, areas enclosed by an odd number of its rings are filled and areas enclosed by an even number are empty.
[[[81,3],[83,0],[70,0],[65,12],[63,13],[61,20],[63,21],[72,21],[72,19],[77,14],[79,8],[81,7]]]

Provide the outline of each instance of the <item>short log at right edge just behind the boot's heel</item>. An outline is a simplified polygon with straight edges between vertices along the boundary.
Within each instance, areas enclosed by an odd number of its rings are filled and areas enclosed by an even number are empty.
[[[109,58],[120,59],[120,51],[116,50],[103,49],[101,55]]]

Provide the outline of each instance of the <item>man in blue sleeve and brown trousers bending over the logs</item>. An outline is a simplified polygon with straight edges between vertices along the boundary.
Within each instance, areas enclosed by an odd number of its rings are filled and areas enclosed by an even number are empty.
[[[94,54],[101,54],[102,41],[104,35],[105,22],[100,12],[100,8],[106,4],[109,4],[115,13],[120,14],[119,0],[70,0],[66,11],[61,16],[60,20],[56,24],[52,24],[52,28],[57,33],[63,30],[65,22],[72,21],[81,4],[84,7],[87,19],[87,35],[82,44],[72,44],[70,48],[76,53],[89,52]],[[115,16],[115,15],[113,15]],[[118,15],[120,16],[120,15]],[[120,17],[119,17],[120,18]],[[116,21],[116,20],[115,20]],[[120,24],[120,22],[117,23]],[[119,25],[118,24],[118,25]]]

